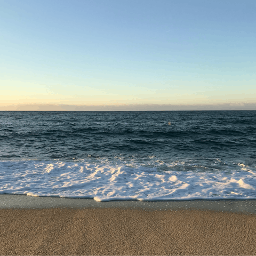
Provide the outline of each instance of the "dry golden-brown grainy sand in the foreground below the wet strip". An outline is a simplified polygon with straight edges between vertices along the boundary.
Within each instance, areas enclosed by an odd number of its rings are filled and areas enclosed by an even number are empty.
[[[0,255],[256,255],[256,215],[209,210],[1,209]]]

